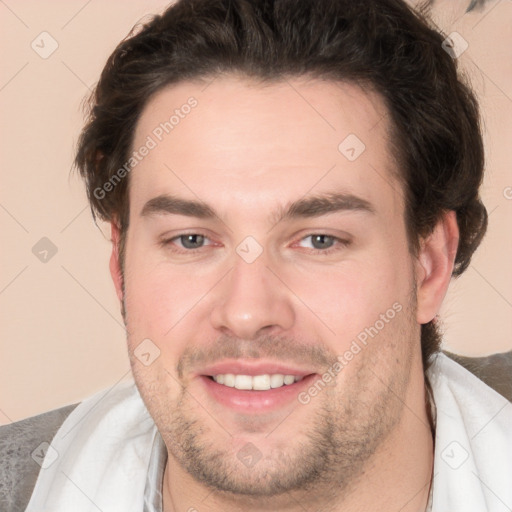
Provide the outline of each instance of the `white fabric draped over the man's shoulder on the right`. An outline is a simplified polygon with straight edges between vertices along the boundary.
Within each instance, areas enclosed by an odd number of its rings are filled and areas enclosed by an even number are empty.
[[[437,410],[433,512],[510,512],[512,403],[444,354],[429,377]]]

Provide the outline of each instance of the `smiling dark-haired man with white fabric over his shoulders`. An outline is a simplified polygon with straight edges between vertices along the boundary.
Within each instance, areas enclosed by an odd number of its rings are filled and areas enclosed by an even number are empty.
[[[486,229],[478,109],[397,0],[182,0],[114,51],[76,163],[134,375],[27,510],[507,510],[510,403],[439,353]]]

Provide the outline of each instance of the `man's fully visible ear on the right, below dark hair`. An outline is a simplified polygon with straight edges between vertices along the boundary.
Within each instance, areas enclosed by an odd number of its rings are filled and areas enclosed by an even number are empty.
[[[459,244],[457,215],[443,213],[434,231],[421,243],[416,263],[416,287],[420,324],[430,322],[438,313],[452,277]]]

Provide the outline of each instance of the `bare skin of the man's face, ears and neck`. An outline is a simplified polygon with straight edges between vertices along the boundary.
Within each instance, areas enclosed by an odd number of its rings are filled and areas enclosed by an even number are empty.
[[[453,212],[414,259],[386,109],[351,84],[263,86],[233,75],[180,83],[146,105],[133,148],[191,96],[197,106],[131,171],[124,276],[112,223],[132,369],[169,454],[165,510],[425,510],[433,442],[420,324],[450,281]],[[353,161],[338,149],[349,134],[366,146]],[[373,213],[278,221],[276,209],[332,192],[363,198]],[[216,215],[142,214],[162,194]],[[190,252],[176,237],[193,233],[204,238]],[[237,253],[248,236],[257,245],[242,247],[263,249],[251,263]],[[347,361],[357,336],[394,304],[400,311]],[[147,338],[160,351],[148,366],[134,356]],[[259,412],[219,403],[198,376],[238,360],[320,378],[340,357],[342,370],[307,404],[294,397]],[[243,450],[257,463],[243,464]]]

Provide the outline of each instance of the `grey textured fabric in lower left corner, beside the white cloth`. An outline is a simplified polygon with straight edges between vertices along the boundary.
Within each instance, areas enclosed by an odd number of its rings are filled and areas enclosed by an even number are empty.
[[[57,430],[78,404],[0,427],[0,510],[21,512],[28,504],[45,453]],[[47,445],[46,445],[47,446]]]

